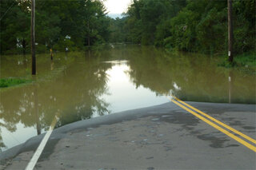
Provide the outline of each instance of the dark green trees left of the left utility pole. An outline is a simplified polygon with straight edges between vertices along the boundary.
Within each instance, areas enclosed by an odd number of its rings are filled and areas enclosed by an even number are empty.
[[[24,53],[27,44],[30,42],[30,14],[24,9],[23,4],[15,0],[0,2],[1,53],[5,51],[11,53],[13,49],[15,51],[22,49]]]

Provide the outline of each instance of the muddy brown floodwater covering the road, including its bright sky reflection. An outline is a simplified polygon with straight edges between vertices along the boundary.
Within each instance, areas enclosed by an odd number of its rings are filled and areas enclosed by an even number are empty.
[[[21,144],[75,121],[168,102],[255,104],[255,76],[218,66],[218,58],[196,53],[120,45],[91,52],[37,55],[37,76],[30,56],[2,56],[0,77],[33,83],[0,89],[0,148]]]

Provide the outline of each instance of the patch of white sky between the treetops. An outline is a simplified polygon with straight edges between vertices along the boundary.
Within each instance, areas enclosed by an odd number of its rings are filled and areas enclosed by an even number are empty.
[[[126,12],[131,0],[106,0],[104,2],[109,14],[122,14]]]

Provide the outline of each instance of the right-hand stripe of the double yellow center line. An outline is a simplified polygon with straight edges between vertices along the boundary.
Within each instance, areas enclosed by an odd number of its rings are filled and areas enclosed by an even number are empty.
[[[208,114],[203,113],[201,110],[198,110],[196,108],[194,108],[191,105],[186,104],[184,101],[181,101],[180,99],[178,99],[177,97],[174,97],[177,101],[179,101],[180,103],[182,103],[183,105],[186,105],[187,107],[189,107],[190,109],[194,109],[194,111],[201,113],[203,116],[209,118],[211,121],[214,121],[216,123],[218,123],[219,125],[222,125],[223,127],[229,129],[232,132],[237,133],[238,135],[244,137],[246,140],[250,140],[251,142],[253,142],[254,144],[256,144],[256,140],[254,140],[253,138],[251,138],[250,136],[246,136],[245,134],[243,134],[242,132],[239,132],[238,130],[231,128],[230,126],[222,123],[221,121],[218,121],[217,119],[215,119],[214,117],[210,117]]]

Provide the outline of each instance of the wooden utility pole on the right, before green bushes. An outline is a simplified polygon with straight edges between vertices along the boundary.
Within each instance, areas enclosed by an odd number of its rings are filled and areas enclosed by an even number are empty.
[[[233,62],[233,18],[232,18],[232,0],[227,0],[228,8],[228,32],[229,32],[229,61]]]

